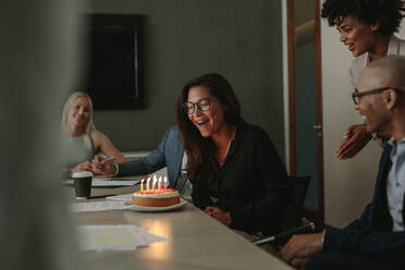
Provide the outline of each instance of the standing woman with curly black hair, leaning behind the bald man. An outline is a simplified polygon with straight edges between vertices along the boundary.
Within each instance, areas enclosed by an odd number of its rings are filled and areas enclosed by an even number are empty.
[[[405,40],[394,36],[404,17],[404,0],[326,0],[323,19],[335,26],[340,40],[355,59],[349,69],[355,87],[360,71],[370,62],[388,54],[405,54]],[[340,159],[353,158],[371,139],[365,124],[349,126],[336,150]]]

